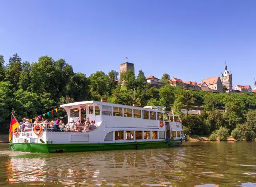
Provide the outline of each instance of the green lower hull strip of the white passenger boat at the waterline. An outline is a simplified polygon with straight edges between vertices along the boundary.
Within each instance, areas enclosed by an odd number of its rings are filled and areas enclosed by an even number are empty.
[[[83,151],[107,151],[119,149],[152,149],[174,147],[182,144],[182,140],[170,139],[167,141],[141,141],[125,143],[67,143],[67,144],[46,144],[46,143],[9,143],[12,151],[31,153],[55,153],[55,152],[83,152]]]

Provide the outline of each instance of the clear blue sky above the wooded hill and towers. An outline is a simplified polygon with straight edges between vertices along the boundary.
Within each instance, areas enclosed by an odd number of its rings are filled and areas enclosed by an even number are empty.
[[[201,82],[225,60],[236,84],[256,76],[255,0],[0,0],[0,55],[63,58],[86,76],[119,72]]]

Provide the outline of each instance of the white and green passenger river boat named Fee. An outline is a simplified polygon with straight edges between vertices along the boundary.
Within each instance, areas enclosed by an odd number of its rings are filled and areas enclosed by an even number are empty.
[[[102,101],[81,101],[60,107],[66,110],[68,121],[95,120],[97,128],[85,127],[82,132],[75,132],[31,124],[30,130],[12,132],[10,148],[33,153],[103,151],[173,147],[184,140],[182,124],[170,121],[170,112],[156,107]]]

